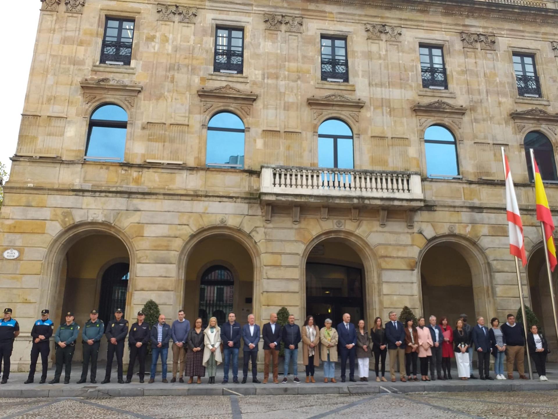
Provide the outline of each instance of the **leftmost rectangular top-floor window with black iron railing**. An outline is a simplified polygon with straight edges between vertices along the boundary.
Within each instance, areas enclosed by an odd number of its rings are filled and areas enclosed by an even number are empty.
[[[101,47],[101,64],[130,65],[132,62],[132,40],[134,21],[107,17]]]

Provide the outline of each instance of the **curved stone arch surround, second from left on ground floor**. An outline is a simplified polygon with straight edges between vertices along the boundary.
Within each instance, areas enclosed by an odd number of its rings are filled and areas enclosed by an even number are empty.
[[[215,225],[200,228],[196,231],[190,238],[186,241],[182,249],[180,250],[179,256],[177,258],[177,278],[175,295],[177,298],[177,306],[182,307],[184,304],[184,289],[186,287],[186,266],[188,259],[194,250],[195,246],[202,240],[208,239],[209,237],[227,237],[232,239],[247,251],[249,257],[252,260],[253,269],[253,285],[252,285],[252,309],[256,319],[260,319],[261,307],[259,305],[260,293],[261,293],[261,281],[262,281],[262,262],[261,262],[261,251],[254,241],[253,237],[248,235],[247,232],[241,230],[237,227],[225,226],[225,225]],[[217,259],[215,259],[217,260]],[[234,273],[234,271],[233,271]],[[196,272],[196,279],[199,283],[199,276],[201,273]],[[235,279],[236,281],[236,279]],[[197,316],[196,316],[197,317]]]

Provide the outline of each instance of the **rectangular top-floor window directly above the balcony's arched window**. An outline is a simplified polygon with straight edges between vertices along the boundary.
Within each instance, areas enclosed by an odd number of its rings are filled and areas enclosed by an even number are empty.
[[[321,37],[321,79],[324,82],[349,82],[347,39]]]

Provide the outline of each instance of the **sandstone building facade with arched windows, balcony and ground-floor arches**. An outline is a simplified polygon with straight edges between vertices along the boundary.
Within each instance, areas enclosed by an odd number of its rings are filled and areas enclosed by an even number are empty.
[[[42,308],[502,319],[519,298],[501,147],[524,292],[556,341],[525,147],[558,214],[557,29],[552,0],[41,0],[0,212],[12,368]],[[107,104],[126,115],[102,127],[112,158],[92,154]]]

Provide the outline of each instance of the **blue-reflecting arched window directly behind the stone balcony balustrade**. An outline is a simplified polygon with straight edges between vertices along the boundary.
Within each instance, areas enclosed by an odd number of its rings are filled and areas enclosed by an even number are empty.
[[[318,166],[354,169],[353,131],[343,121],[326,120],[318,128]]]

